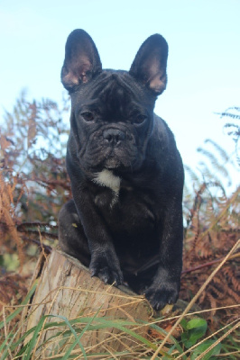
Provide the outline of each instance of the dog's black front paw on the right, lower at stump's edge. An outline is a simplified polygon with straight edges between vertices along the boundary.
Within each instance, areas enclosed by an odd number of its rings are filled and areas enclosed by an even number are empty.
[[[145,291],[146,299],[156,311],[161,311],[167,304],[177,302],[178,296],[179,290],[176,284],[163,283],[160,286],[154,286],[154,284],[152,284]]]

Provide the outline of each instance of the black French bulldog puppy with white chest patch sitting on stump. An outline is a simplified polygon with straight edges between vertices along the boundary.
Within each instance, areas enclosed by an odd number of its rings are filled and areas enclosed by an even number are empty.
[[[176,302],[182,267],[183,167],[153,113],[166,87],[168,45],[143,42],[129,72],[103,70],[87,32],[69,34],[61,82],[71,96],[60,247],[107,284],[124,281],[156,310]]]

